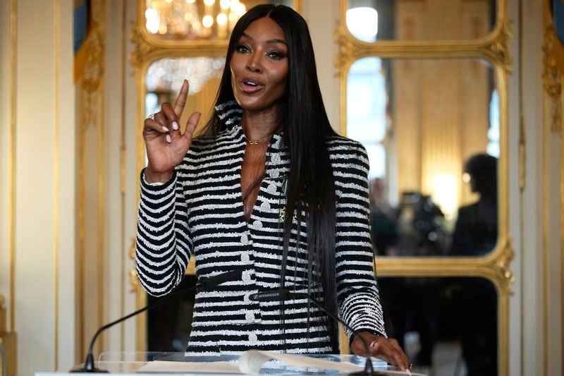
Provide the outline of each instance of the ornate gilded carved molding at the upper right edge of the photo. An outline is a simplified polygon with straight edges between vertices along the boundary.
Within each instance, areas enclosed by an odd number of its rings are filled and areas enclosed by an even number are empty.
[[[562,126],[562,72],[556,58],[556,44],[558,37],[554,31],[554,25],[550,23],[544,31],[544,42],[542,50],[544,57],[542,82],[544,91],[548,95],[548,114],[550,116],[551,131],[560,135]]]

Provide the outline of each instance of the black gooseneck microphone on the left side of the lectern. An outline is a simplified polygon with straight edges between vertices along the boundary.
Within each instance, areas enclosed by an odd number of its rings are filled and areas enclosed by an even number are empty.
[[[217,274],[214,277],[204,278],[201,281],[198,281],[197,284],[195,284],[195,286],[188,287],[188,289],[176,291],[176,293],[171,293],[170,295],[158,299],[157,301],[154,301],[149,305],[145,305],[145,307],[140,308],[139,310],[136,310],[135,312],[130,313],[129,315],[123,316],[116,321],[112,321],[109,324],[104,325],[103,327],[97,330],[97,332],[92,337],[92,340],[90,341],[90,346],[88,346],[88,353],[86,354],[86,360],[84,361],[84,366],[80,367],[80,365],[78,365],[77,367],[73,368],[70,372],[97,372],[97,373],[108,372],[106,370],[100,370],[99,368],[94,367],[94,355],[92,354],[92,351],[94,348],[94,341],[96,341],[100,333],[104,332],[104,330],[108,329],[109,327],[113,327],[114,325],[124,320],[127,320],[130,317],[138,315],[139,313],[142,313],[146,310],[150,310],[151,308],[157,307],[157,305],[161,305],[167,301],[170,301],[173,298],[184,295],[185,293],[188,293],[195,289],[211,289],[212,287],[218,286],[225,282],[241,279],[242,274],[243,274],[243,269],[235,269],[231,272]]]

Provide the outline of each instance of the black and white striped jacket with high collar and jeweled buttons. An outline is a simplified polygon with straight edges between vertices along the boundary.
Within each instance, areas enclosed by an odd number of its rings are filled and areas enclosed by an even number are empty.
[[[187,353],[216,355],[250,348],[333,352],[321,312],[305,299],[285,304],[284,340],[279,302],[249,300],[251,293],[279,288],[289,161],[281,135],[275,134],[266,151],[257,202],[246,222],[240,186],[245,134],[237,120],[228,121],[231,124],[215,138],[195,138],[167,183],[152,185],[142,175],[135,254],[141,284],[154,296],[169,293],[180,283],[190,257],[195,257],[198,277],[243,266],[240,281],[197,291]],[[347,138],[331,137],[327,146],[337,198],[341,317],[355,329],[385,334],[370,241],[367,155],[360,143]],[[305,238],[305,222],[301,229]],[[290,243],[286,286],[307,292],[305,243],[298,249]]]

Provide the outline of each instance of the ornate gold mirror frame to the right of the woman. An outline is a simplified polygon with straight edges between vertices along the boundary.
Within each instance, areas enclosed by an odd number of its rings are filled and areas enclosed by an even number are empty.
[[[508,375],[508,303],[515,277],[509,268],[514,257],[509,236],[508,218],[508,87],[511,70],[508,42],[511,37],[507,0],[497,1],[497,20],[489,35],[477,40],[461,41],[379,41],[362,42],[346,26],[348,0],[340,0],[340,22],[334,35],[338,44],[335,64],[340,85],[340,124],[342,135],[347,127],[347,77],[350,66],[368,56],[381,58],[474,57],[491,63],[499,90],[500,158],[498,168],[498,242],[496,248],[482,257],[378,257],[379,276],[393,277],[484,277],[499,292],[498,298],[498,369]]]

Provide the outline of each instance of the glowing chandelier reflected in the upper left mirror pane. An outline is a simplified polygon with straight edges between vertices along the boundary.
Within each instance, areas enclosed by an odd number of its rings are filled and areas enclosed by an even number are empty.
[[[240,0],[147,0],[147,30],[170,39],[226,40],[247,11]]]

